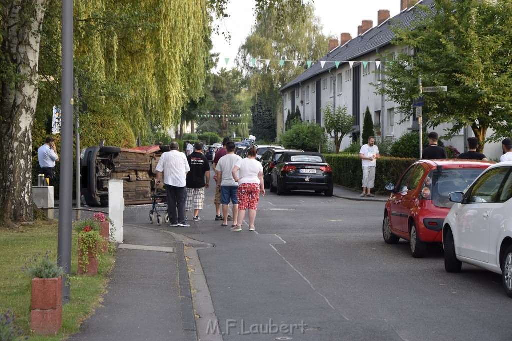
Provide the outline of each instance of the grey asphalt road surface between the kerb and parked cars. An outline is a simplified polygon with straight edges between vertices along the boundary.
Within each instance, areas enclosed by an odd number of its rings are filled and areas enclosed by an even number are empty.
[[[382,202],[267,192],[251,233],[221,227],[212,197],[176,232],[215,246],[199,257],[226,340],[510,339],[500,275],[448,274],[439,245],[415,259],[407,242],[386,244]]]

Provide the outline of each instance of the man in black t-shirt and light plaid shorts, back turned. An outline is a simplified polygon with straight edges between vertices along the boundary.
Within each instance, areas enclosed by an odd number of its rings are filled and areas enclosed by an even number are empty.
[[[210,164],[202,153],[204,145],[196,143],[194,152],[187,156],[190,171],[187,173],[187,202],[185,212],[194,207],[194,218],[199,221],[199,210],[203,209],[204,189],[210,187]],[[206,180],[205,180],[206,177]]]

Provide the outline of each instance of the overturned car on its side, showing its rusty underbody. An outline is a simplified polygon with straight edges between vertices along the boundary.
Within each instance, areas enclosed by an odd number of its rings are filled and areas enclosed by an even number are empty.
[[[124,203],[151,203],[154,194],[163,195],[156,188],[156,166],[169,146],[121,148],[92,146],[81,152],[81,190],[88,206],[109,206],[109,180],[122,179]]]

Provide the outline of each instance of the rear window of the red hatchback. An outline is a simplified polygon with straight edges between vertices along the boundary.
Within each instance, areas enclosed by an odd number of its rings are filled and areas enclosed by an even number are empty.
[[[452,192],[465,192],[480,173],[481,168],[457,168],[435,170],[432,181],[432,200],[437,207],[451,208],[454,205],[449,195]]]

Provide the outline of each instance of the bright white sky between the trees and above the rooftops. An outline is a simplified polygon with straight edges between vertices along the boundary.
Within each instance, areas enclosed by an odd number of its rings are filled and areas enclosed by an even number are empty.
[[[212,34],[214,43],[213,53],[220,53],[220,67],[226,67],[224,58],[237,57],[238,49],[250,34],[254,25],[254,0],[231,0],[227,12],[231,17],[221,22],[221,31],[231,34],[231,41],[227,42],[223,36]],[[400,0],[314,0],[315,15],[320,18],[324,26],[324,34],[334,35],[338,38],[343,32],[350,33],[353,38],[357,36],[357,27],[362,20],[373,20],[377,26],[377,12],[390,10],[391,17],[400,12]],[[217,24],[217,23],[216,23]],[[228,69],[234,66],[232,61]]]

